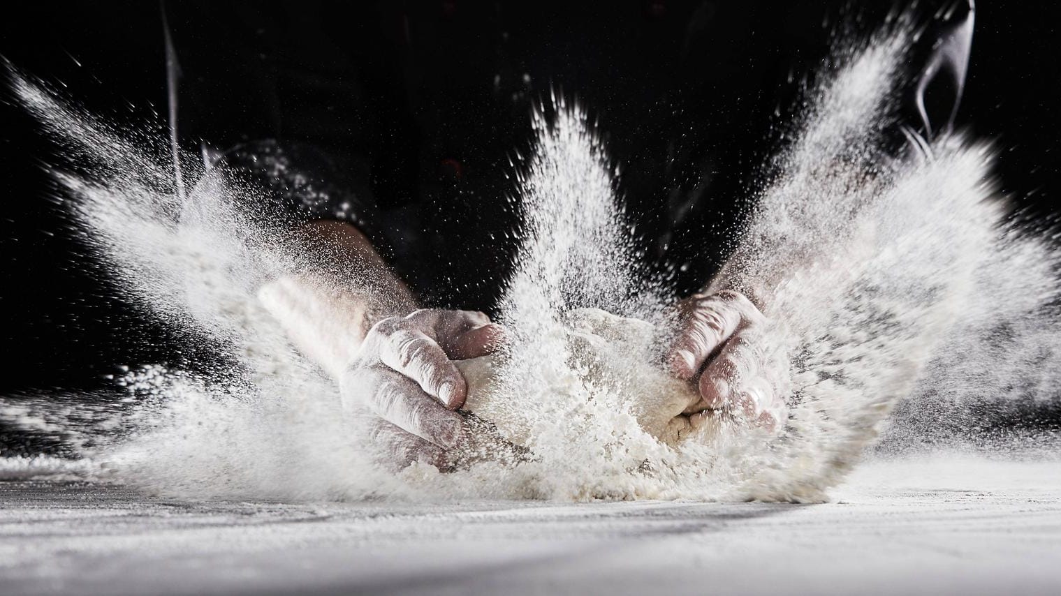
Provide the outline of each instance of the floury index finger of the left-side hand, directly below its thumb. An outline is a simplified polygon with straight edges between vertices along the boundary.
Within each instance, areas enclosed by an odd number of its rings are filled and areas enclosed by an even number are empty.
[[[450,409],[464,405],[467,384],[457,367],[434,339],[416,329],[389,330],[380,346],[380,360],[412,379],[429,396]]]

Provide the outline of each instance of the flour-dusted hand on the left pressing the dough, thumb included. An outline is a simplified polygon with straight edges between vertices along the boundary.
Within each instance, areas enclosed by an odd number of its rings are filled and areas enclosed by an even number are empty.
[[[388,317],[368,331],[340,380],[343,402],[381,418],[371,439],[398,469],[421,461],[448,467],[447,452],[465,433],[468,386],[451,361],[482,356],[504,330],[483,313],[420,310]]]

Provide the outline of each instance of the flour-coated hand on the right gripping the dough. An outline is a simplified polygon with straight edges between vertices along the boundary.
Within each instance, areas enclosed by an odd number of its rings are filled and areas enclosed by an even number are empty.
[[[697,426],[706,417],[728,414],[779,430],[786,418],[788,366],[776,351],[764,352],[766,317],[733,291],[696,294],[678,309],[681,327],[667,358],[679,379],[699,374],[700,401],[685,410],[690,422]]]

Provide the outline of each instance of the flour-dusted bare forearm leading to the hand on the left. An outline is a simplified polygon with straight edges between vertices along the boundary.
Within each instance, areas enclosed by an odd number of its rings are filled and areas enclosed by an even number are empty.
[[[266,283],[259,299],[295,346],[337,379],[377,320],[408,313],[416,303],[353,226],[313,222],[299,235],[301,249],[320,255],[319,262]]]

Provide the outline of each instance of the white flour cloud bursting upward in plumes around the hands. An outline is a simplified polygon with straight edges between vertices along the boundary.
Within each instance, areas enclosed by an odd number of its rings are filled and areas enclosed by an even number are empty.
[[[180,196],[167,157],[144,146],[159,145],[24,77],[24,105],[91,164],[91,175],[56,176],[108,270],[223,354],[201,363],[209,373],[132,371],[120,404],[6,400],[0,415],[58,430],[87,462],[70,469],[193,496],[828,498],[882,431],[917,442],[962,427],[974,407],[1055,399],[1058,387],[1057,253],[1007,224],[990,148],[960,135],[902,159],[884,148],[906,40],[881,35],[835,54],[711,282],[765,305],[760,348],[793,379],[776,435],[726,424],[666,435],[650,420],[648,406],[674,395],[658,382],[663,338],[651,329],[672,323],[675,297],[634,274],[606,147],[563,100],[553,100],[555,118],[534,117],[536,150],[518,176],[523,246],[501,309],[514,337],[490,371],[494,409],[484,416],[527,451],[492,458],[486,446],[455,472],[390,474],[353,432],[367,414],[344,417],[335,384],[258,302],[263,281],[319,263],[224,198],[253,203],[256,191],[204,172]],[[353,274],[332,282],[371,284]],[[653,325],[626,338],[597,330],[607,340],[580,357],[588,348],[572,327],[595,323],[572,313],[587,308]],[[8,468],[19,466],[32,468]]]

